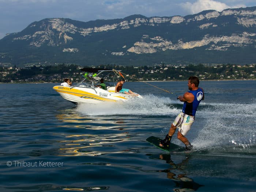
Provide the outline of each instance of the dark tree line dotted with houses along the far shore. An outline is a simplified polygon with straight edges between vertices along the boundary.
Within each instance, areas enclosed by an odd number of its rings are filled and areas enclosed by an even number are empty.
[[[121,70],[127,81],[178,81],[187,80],[189,76],[198,76],[200,80],[255,80],[256,64],[234,65],[154,65],[154,66],[120,66],[99,65],[83,66]],[[64,78],[77,81],[82,79],[82,66],[76,64],[33,65],[26,68],[0,67],[0,83],[59,83]],[[108,80],[108,79],[106,79]],[[109,79],[110,80],[110,79]]]

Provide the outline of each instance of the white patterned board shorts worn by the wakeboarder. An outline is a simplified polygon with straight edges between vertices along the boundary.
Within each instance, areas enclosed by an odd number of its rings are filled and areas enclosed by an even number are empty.
[[[187,115],[185,113],[180,113],[173,121],[173,125],[179,128],[180,133],[185,136],[190,130],[191,125],[194,123],[195,117]]]

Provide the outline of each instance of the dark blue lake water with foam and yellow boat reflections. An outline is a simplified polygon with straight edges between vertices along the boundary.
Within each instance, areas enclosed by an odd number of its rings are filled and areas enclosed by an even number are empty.
[[[202,81],[187,135],[193,153],[166,153],[187,82],[127,82],[143,99],[76,105],[56,84],[0,84],[0,191],[256,191],[256,83]],[[183,146],[176,138],[172,142]]]

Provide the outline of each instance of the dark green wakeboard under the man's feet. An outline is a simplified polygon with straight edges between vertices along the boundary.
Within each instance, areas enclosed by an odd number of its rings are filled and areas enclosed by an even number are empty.
[[[181,147],[181,146],[173,144],[173,143],[170,143],[169,147],[160,147],[159,143],[160,143],[161,140],[162,139],[159,139],[155,136],[151,136],[151,137],[146,139],[146,141],[149,142],[150,144],[152,144],[155,147],[157,147],[157,148],[159,148],[163,151],[166,151],[166,152],[183,152],[183,151],[186,151],[185,147]]]

